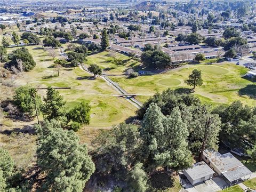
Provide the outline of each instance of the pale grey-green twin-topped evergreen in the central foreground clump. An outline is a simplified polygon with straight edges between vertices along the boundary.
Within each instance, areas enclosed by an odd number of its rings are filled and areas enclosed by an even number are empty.
[[[158,166],[184,169],[190,165],[188,129],[178,107],[173,109],[170,116],[165,117],[161,108],[151,103],[142,121],[141,137],[149,169]]]

